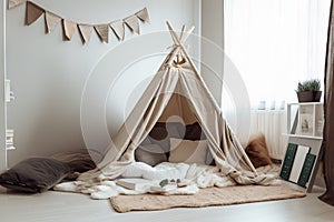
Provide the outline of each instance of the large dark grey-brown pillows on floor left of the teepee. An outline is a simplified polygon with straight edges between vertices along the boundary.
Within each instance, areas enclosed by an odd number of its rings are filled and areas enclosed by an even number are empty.
[[[0,185],[21,192],[45,192],[62,180],[75,180],[79,173],[95,169],[102,155],[80,149],[51,158],[27,158],[0,174]]]

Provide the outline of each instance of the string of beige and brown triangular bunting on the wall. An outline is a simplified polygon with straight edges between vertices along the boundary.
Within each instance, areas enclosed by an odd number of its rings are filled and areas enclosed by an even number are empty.
[[[144,8],[140,11],[136,12],[135,14],[129,16],[122,20],[116,20],[104,24],[87,24],[87,23],[78,23],[75,21],[70,21],[50,11],[47,11],[40,6],[27,0],[8,0],[8,9],[16,8],[24,2],[27,2],[27,8],[26,8],[27,26],[32,24],[42,14],[45,14],[47,33],[51,33],[59,23],[62,23],[65,40],[70,41],[76,32],[76,29],[78,29],[84,44],[87,44],[89,42],[92,30],[96,31],[101,42],[108,43],[110,29],[112,30],[117,39],[119,41],[122,41],[125,39],[126,26],[132,32],[139,34],[140,33],[139,20],[141,22],[149,22],[147,8]]]

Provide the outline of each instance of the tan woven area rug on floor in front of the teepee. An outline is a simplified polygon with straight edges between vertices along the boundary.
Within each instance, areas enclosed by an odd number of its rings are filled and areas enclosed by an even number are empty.
[[[195,195],[117,195],[110,198],[112,208],[120,213],[157,211],[171,208],[203,208],[261,201],[303,198],[305,192],[286,186],[237,185],[200,189]]]

